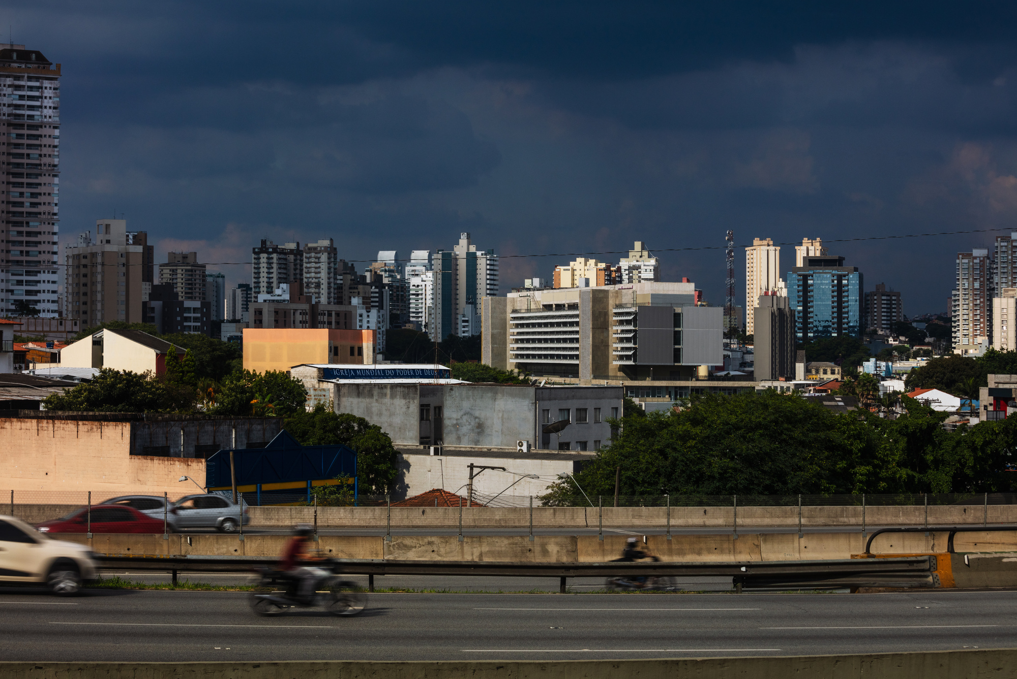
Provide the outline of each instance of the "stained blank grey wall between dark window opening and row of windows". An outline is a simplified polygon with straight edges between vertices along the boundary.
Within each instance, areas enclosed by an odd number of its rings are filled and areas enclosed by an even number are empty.
[[[446,445],[514,445],[533,441],[534,389],[527,385],[443,387]]]

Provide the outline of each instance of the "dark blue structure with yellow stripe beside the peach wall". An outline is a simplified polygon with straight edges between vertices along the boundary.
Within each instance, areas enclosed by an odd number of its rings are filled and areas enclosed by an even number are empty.
[[[205,462],[204,483],[210,492],[233,488],[230,452],[220,450]],[[263,448],[235,448],[232,452],[237,491],[256,493],[258,505],[262,500],[292,502],[304,497],[310,502],[311,488],[343,483],[336,477],[353,480],[356,502],[357,453],[345,445],[300,445],[284,429]]]

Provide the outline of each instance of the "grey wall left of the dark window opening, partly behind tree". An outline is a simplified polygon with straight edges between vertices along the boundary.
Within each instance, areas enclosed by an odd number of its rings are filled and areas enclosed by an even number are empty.
[[[337,384],[335,409],[378,424],[396,445],[420,445],[416,384]]]

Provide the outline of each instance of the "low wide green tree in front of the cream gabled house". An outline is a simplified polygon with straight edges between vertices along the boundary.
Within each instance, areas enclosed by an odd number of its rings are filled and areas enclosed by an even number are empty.
[[[172,384],[151,372],[103,368],[91,382],[43,399],[48,411],[100,413],[189,413],[195,392]]]

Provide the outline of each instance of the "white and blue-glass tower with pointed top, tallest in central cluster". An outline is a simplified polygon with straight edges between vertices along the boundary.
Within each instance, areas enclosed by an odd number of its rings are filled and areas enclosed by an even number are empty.
[[[480,328],[480,300],[498,294],[498,258],[494,250],[477,250],[470,234],[460,234],[459,245],[438,250],[434,271],[434,322],[431,338],[476,334]]]

